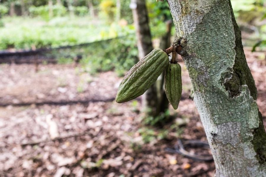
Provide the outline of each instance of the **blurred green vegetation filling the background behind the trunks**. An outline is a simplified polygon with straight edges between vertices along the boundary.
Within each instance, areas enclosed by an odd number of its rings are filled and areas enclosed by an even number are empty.
[[[266,48],[266,1],[231,0],[243,45]],[[0,50],[82,47],[56,50],[59,63],[81,56],[84,71],[115,70],[119,75],[138,60],[130,0],[0,0]],[[154,47],[166,33],[171,14],[166,1],[147,0]],[[171,35],[175,36],[172,26]],[[111,40],[108,40],[111,39]]]

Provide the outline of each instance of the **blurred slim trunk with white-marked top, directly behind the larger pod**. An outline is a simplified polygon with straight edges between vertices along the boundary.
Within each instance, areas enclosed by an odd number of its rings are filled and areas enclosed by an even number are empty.
[[[130,7],[132,8],[136,28],[139,58],[142,59],[153,50],[145,0],[131,0]],[[158,97],[156,84],[153,84],[142,95],[142,105],[148,115],[157,116]]]

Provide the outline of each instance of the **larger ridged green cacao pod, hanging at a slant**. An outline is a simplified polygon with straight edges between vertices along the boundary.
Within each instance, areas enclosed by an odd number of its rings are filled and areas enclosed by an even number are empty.
[[[168,64],[168,55],[163,50],[151,51],[127,72],[118,87],[116,102],[123,103],[142,95],[153,85]]]

